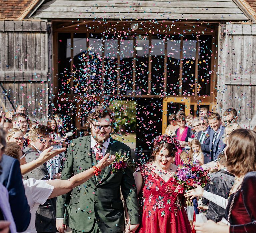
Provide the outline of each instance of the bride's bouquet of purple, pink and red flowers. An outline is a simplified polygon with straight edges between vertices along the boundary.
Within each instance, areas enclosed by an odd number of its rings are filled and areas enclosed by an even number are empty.
[[[175,192],[178,193],[184,193],[184,191],[186,192],[195,188],[195,184],[198,184],[203,188],[207,183],[210,183],[209,172],[204,171],[199,163],[193,160],[179,166],[177,173],[174,175],[174,179],[177,181]],[[187,198],[186,205],[192,206],[190,198]]]

